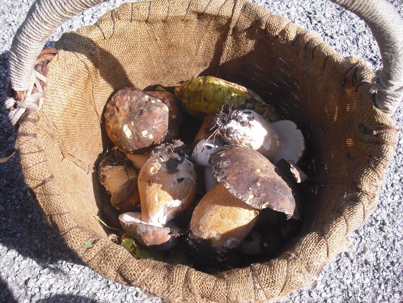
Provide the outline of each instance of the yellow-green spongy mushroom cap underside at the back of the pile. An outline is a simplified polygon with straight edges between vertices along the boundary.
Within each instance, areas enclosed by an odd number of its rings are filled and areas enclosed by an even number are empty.
[[[223,106],[253,109],[270,122],[279,120],[273,107],[252,90],[213,76],[198,77],[175,88],[175,96],[192,117],[216,114]]]

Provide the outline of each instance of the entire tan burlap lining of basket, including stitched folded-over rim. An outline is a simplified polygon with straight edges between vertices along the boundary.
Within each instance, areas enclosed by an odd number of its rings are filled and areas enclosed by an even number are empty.
[[[167,303],[279,299],[309,285],[374,211],[398,130],[373,106],[373,73],[286,18],[244,0],[127,3],[56,47],[43,107],[21,121],[17,148],[46,220],[104,277]],[[250,88],[295,121],[318,184],[302,193],[304,228],[281,256],[216,275],[137,260],[92,217],[105,200],[94,165],[109,144],[102,113],[110,97],[199,75]]]

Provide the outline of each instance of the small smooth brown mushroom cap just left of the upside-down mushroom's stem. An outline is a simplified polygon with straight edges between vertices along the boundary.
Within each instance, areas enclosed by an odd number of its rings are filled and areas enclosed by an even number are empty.
[[[111,205],[120,213],[133,212],[140,208],[137,176],[122,184],[111,196]]]

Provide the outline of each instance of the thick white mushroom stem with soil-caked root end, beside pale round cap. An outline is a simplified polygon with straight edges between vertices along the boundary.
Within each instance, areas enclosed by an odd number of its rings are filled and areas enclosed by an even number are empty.
[[[257,112],[250,109],[222,109],[213,122],[223,140],[257,150],[272,163],[284,157],[285,149],[279,134]]]

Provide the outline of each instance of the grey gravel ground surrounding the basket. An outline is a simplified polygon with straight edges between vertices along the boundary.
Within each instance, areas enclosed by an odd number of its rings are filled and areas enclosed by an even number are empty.
[[[7,51],[33,0],[0,1],[0,157],[14,149],[16,132],[3,108]],[[61,33],[94,23],[123,1],[108,1],[73,18]],[[379,50],[368,27],[325,0],[255,0],[273,13],[316,32],[343,55],[363,58],[375,71]],[[401,0],[389,0],[403,15]],[[51,44],[51,42],[48,42]],[[397,111],[403,126],[403,109]],[[310,289],[288,302],[403,302],[403,138],[386,172],[375,213],[349,236],[353,248],[327,265]],[[113,283],[85,267],[44,222],[30,198],[17,156],[0,164],[0,302],[151,302],[139,288]],[[161,302],[152,299],[152,302]]]

